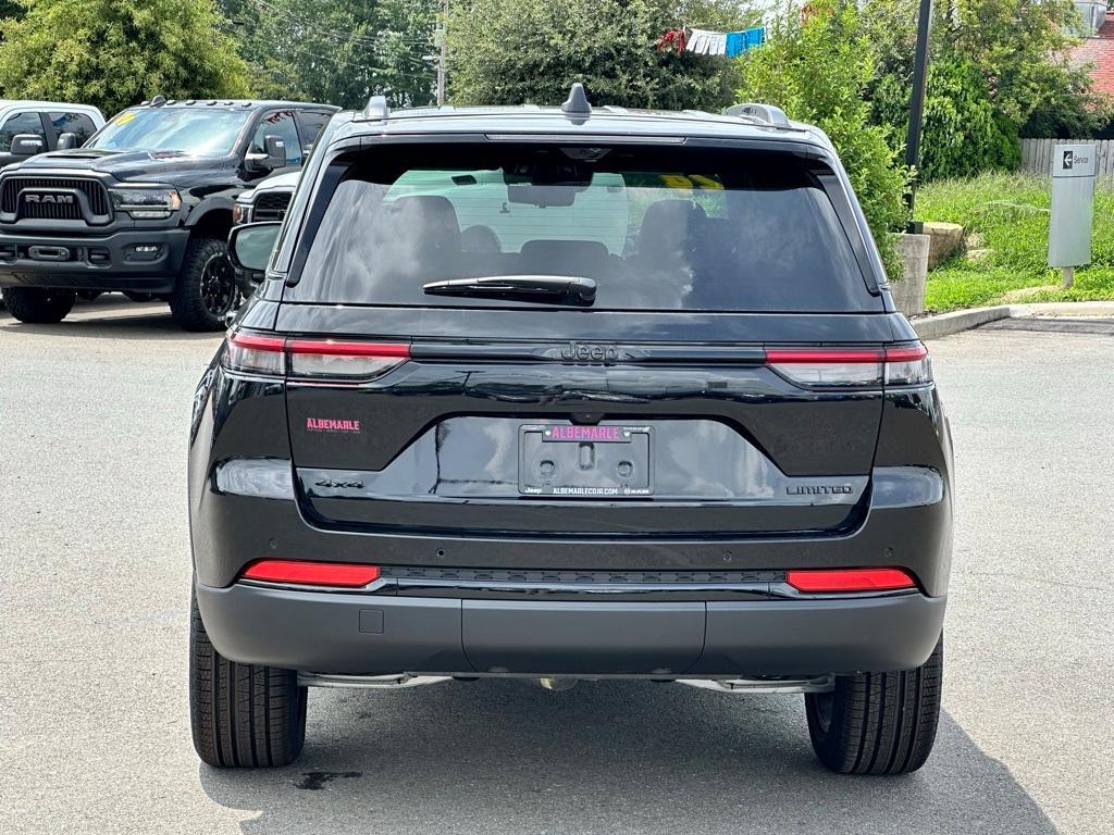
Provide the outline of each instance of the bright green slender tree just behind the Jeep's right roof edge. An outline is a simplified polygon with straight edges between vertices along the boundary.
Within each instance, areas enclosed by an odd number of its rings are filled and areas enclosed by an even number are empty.
[[[876,53],[856,6],[820,0],[803,21],[790,12],[768,29],[769,41],[741,59],[740,100],[776,105],[828,134],[888,271],[900,277],[888,233],[905,226],[909,171],[898,163],[889,129],[870,124],[863,91],[874,78]]]

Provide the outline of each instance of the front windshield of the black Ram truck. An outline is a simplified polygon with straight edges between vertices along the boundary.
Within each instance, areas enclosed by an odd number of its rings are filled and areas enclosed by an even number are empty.
[[[116,115],[88,147],[106,150],[178,150],[225,156],[247,122],[242,110],[213,107],[152,107]]]

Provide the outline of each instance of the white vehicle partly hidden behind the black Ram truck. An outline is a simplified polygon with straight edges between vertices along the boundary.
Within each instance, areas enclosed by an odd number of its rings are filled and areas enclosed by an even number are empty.
[[[105,124],[89,105],[0,99],[0,168],[36,154],[77,148]]]

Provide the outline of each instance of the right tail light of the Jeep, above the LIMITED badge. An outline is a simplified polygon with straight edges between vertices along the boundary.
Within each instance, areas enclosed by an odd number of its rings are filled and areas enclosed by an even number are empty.
[[[920,344],[887,348],[771,348],[771,369],[798,385],[916,385],[932,380],[928,350]]]

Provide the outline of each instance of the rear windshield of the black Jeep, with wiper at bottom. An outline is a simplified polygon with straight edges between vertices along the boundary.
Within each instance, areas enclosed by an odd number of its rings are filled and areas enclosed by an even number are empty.
[[[551,308],[566,301],[428,285],[573,276],[596,283],[594,310],[880,310],[825,190],[839,186],[814,166],[739,150],[380,147],[332,168],[284,298]]]

